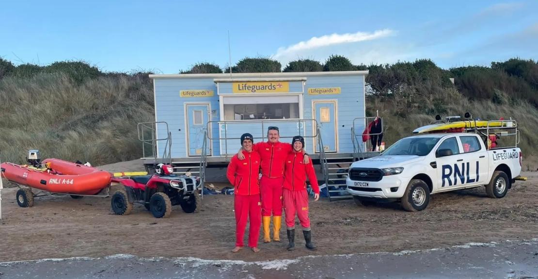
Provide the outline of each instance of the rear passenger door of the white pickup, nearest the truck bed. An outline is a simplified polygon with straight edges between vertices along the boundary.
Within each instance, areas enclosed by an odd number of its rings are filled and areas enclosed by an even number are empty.
[[[482,144],[476,136],[459,136],[459,141],[462,143],[461,158],[465,163],[463,168],[465,169],[466,184],[486,184],[489,168],[486,149],[482,148]]]

